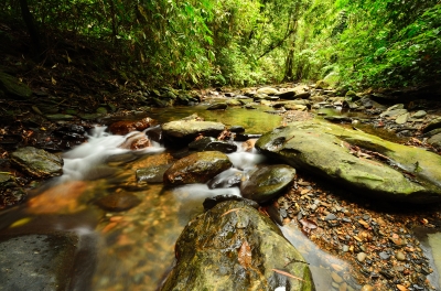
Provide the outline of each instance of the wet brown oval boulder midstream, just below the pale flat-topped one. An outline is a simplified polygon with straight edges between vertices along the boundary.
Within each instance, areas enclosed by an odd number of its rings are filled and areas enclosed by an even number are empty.
[[[218,151],[196,152],[170,166],[164,173],[164,183],[168,185],[206,183],[232,165],[225,153]]]

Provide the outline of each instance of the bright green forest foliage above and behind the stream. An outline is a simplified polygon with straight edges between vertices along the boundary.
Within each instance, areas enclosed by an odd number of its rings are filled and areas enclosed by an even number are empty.
[[[87,44],[157,84],[387,88],[441,76],[439,0],[6,0],[0,18],[26,30],[39,62]]]

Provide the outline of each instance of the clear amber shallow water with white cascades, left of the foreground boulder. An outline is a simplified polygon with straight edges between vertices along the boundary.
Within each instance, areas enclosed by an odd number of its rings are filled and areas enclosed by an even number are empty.
[[[121,137],[95,128],[86,143],[63,154],[61,177],[35,190],[20,211],[7,213],[7,228],[0,234],[74,233],[78,241],[92,238],[93,244],[84,246],[94,256],[92,290],[157,290],[173,265],[179,235],[203,212],[203,201],[240,192],[205,184],[170,190],[138,183],[137,169],[170,164],[173,158],[160,144],[137,151],[119,148],[133,134],[138,132]],[[230,159],[241,169],[263,161],[240,147]],[[97,201],[114,193],[135,195],[140,204],[123,212],[101,209]]]

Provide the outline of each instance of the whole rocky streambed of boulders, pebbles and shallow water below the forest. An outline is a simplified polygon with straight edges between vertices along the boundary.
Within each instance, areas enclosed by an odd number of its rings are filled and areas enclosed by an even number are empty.
[[[73,266],[84,266],[80,254],[98,259],[85,272],[75,267],[55,276],[69,288],[79,282],[94,290],[439,287],[432,257],[415,235],[416,227],[437,229],[440,224],[435,111],[422,112],[422,101],[384,106],[376,101],[384,96],[372,94],[336,97],[335,90],[319,86],[208,95],[201,98],[203,106],[190,109],[198,115],[187,116],[185,109],[179,120],[165,120],[166,109],[130,121],[101,119],[117,136],[90,136],[89,144],[63,160],[34,147],[11,151],[11,169],[35,179],[63,175],[58,184],[36,187],[39,195],[4,212],[1,245],[56,229],[76,234],[62,239],[83,241],[69,252],[76,258]],[[352,111],[321,118],[330,108]],[[234,110],[263,121],[248,130],[223,119]],[[262,130],[270,116],[279,125]],[[410,136],[411,146],[372,136],[362,125]],[[60,131],[58,126],[53,132]],[[79,133],[71,137],[84,140]],[[3,196],[26,195],[20,175],[4,172],[1,177]],[[319,251],[306,241],[326,252],[311,257]],[[8,273],[2,276],[14,284]]]

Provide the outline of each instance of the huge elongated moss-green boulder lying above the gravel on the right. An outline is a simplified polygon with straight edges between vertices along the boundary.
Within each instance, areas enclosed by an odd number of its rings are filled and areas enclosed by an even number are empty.
[[[370,151],[354,152],[356,146]],[[441,201],[441,157],[383,140],[362,131],[320,121],[293,122],[263,134],[256,148],[367,195],[430,203]]]

